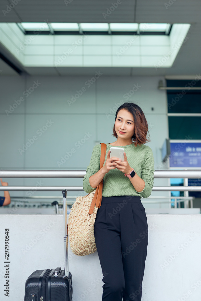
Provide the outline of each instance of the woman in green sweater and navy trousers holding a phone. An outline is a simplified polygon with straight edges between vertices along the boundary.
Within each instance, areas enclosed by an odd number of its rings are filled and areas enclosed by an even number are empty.
[[[104,275],[102,301],[141,301],[148,244],[147,218],[141,197],[149,197],[154,180],[148,124],[141,108],[122,104],[100,168],[101,144],[93,148],[83,189],[92,192],[103,179],[101,206],[94,224],[97,252]],[[134,139],[134,141],[132,141]],[[110,158],[110,147],[124,148],[124,161]],[[112,167],[113,166],[113,167]]]

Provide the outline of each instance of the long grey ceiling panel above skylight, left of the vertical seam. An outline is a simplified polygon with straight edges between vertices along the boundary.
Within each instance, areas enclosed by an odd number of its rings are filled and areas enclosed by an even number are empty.
[[[112,5],[108,0],[26,0],[16,5],[23,22],[133,22],[134,1]],[[65,4],[67,3],[67,5]],[[116,2],[115,2],[116,3]],[[116,6],[116,7],[114,7]],[[111,10],[110,10],[110,7]],[[109,9],[109,10],[108,10]],[[112,11],[113,10],[113,11]],[[107,14],[108,11],[108,14]],[[107,15],[103,15],[107,14]]]

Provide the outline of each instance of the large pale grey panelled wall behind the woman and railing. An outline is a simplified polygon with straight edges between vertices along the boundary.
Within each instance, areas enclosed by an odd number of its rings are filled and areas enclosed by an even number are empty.
[[[96,71],[99,73],[99,69]],[[108,77],[100,74],[95,82],[89,84],[94,74],[92,76],[0,77],[2,169],[86,169],[96,143],[111,143],[116,140],[112,136],[115,113],[126,101],[135,102],[145,113],[151,139],[148,145],[153,151],[155,169],[167,169],[167,165],[161,163],[159,149],[164,139],[168,138],[166,92],[157,89],[159,80],[164,78],[162,76]],[[133,92],[134,85],[138,87],[136,92]],[[82,88],[85,88],[83,94],[76,101],[71,102],[77,91],[81,91]],[[129,93],[129,96],[126,93]],[[154,110],[151,109],[152,107]],[[52,124],[48,124],[49,127],[46,128],[48,120]],[[40,129],[43,127],[45,130],[42,132]],[[87,140],[84,139],[85,133],[91,135]],[[34,136],[36,140],[33,139]],[[81,139],[83,144],[79,147],[77,142]],[[29,147],[25,151],[22,150],[27,143],[30,144]],[[61,163],[61,158],[72,148],[76,150],[75,153],[69,159],[66,157],[66,161]],[[4,181],[9,185],[36,187],[83,185],[82,179],[8,178]],[[167,186],[168,179],[155,179],[154,185]],[[68,195],[77,194],[78,192],[68,192]],[[23,196],[25,199],[33,195],[59,195],[59,193],[57,191],[11,192],[11,196]],[[152,192],[152,195],[168,196],[168,192]],[[146,206],[158,207],[159,205]],[[168,204],[162,206],[167,207]]]

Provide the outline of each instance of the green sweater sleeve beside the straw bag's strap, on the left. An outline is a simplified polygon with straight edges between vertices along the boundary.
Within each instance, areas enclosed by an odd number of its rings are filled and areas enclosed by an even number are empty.
[[[90,185],[89,178],[100,169],[100,146],[101,144],[97,144],[93,147],[90,164],[87,167],[86,175],[83,178],[83,189],[86,193],[91,193],[96,189]]]

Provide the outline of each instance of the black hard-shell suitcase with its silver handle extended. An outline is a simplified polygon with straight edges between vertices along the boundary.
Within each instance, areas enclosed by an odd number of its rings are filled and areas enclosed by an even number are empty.
[[[37,270],[26,280],[24,301],[72,301],[72,275],[68,271],[68,228],[66,189],[62,190],[64,205],[65,269]]]

